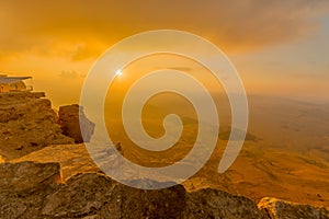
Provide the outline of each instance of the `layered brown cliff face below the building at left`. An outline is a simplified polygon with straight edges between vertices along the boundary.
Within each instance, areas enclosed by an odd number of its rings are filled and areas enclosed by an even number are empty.
[[[0,155],[20,158],[49,145],[73,143],[61,134],[58,116],[44,93],[0,93]]]

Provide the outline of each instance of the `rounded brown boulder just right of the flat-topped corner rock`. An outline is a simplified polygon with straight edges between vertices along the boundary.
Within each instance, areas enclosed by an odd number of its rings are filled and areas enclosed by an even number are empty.
[[[45,199],[43,216],[82,217],[99,211],[111,201],[113,183],[99,174],[79,174]]]

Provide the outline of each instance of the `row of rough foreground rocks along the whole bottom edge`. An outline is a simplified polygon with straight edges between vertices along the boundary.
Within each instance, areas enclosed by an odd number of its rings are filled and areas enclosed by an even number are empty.
[[[144,191],[98,173],[63,182],[58,163],[2,163],[0,175],[1,218],[329,218],[326,209],[275,198],[257,205],[212,188]]]

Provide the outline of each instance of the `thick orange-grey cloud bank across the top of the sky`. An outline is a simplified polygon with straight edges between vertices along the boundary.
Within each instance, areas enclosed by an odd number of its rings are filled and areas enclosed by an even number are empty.
[[[307,37],[327,0],[12,0],[0,2],[0,57],[36,54],[94,58],[117,41],[149,30],[204,36],[243,53]]]

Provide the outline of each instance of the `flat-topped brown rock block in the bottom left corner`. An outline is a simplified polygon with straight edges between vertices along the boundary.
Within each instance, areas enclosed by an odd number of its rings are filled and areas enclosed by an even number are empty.
[[[44,198],[59,187],[58,163],[0,164],[0,218],[39,218]]]

